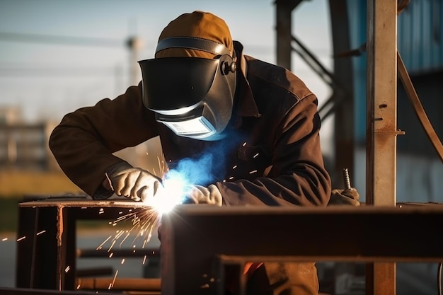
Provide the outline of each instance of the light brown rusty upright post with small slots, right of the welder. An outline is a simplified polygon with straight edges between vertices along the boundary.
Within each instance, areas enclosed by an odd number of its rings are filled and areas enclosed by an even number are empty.
[[[396,205],[396,52],[397,1],[367,1],[366,199],[376,206]],[[395,263],[368,265],[367,294],[396,294]]]

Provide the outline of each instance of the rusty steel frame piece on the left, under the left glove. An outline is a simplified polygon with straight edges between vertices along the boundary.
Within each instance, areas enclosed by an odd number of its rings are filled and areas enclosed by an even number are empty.
[[[144,207],[142,202],[131,200],[94,201],[73,197],[18,204],[16,287],[76,289],[76,221],[115,221],[122,216],[122,211],[127,213]],[[144,253],[158,257],[152,250]],[[65,271],[67,267],[69,271]],[[155,279],[145,281],[146,286],[159,285]]]

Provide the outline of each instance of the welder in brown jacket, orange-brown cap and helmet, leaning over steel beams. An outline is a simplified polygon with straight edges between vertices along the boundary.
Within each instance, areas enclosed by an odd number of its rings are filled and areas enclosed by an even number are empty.
[[[170,169],[211,155],[202,167],[209,177],[192,183],[188,202],[328,204],[316,96],[291,71],[243,54],[221,18],[178,16],[139,65],[137,86],[65,115],[51,134],[59,166],[93,199],[156,197],[162,180],[114,153],[159,136]],[[313,262],[248,266],[248,294],[318,293]]]

